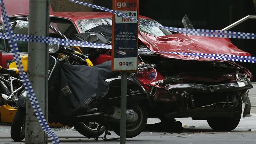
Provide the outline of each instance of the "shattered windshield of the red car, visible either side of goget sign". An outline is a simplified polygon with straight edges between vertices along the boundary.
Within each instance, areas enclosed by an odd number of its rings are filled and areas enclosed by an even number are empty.
[[[150,19],[139,19],[141,22],[139,22],[139,31],[143,33],[147,33],[150,35],[155,36],[165,36],[165,35],[171,35],[172,33],[168,30],[161,29],[159,27],[150,26],[147,24],[152,25],[159,25],[158,22]],[[145,23],[145,24],[143,24]],[[112,25],[112,18],[95,18],[95,19],[86,19],[86,20],[80,20],[77,22],[79,29],[84,33],[85,31],[92,29],[93,27],[99,26],[99,25]]]

